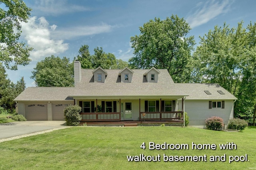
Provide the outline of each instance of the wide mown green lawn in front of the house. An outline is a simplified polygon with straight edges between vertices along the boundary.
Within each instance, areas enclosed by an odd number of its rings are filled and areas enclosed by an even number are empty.
[[[243,132],[210,131],[192,127],[72,127],[0,143],[0,169],[66,170],[248,170],[256,169],[256,129]],[[140,148],[145,142],[146,149]],[[188,144],[183,150],[150,150],[149,142]],[[216,144],[216,149],[192,150],[196,144]],[[236,144],[220,150],[219,144]],[[178,147],[178,145],[176,145]],[[127,156],[158,156],[157,162],[128,162]],[[166,156],[204,156],[206,161],[164,162]],[[226,160],[210,162],[210,156]],[[248,161],[229,163],[229,156]],[[148,157],[150,158],[150,157]],[[182,157],[178,157],[182,160]],[[241,157],[244,159],[244,157]]]

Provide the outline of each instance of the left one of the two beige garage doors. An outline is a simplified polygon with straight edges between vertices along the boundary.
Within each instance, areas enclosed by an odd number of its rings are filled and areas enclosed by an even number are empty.
[[[47,120],[47,104],[25,104],[27,120]]]

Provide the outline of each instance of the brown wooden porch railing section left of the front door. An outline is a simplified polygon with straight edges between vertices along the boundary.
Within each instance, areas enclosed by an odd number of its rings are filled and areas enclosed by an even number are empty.
[[[80,113],[81,121],[120,121],[120,112]]]

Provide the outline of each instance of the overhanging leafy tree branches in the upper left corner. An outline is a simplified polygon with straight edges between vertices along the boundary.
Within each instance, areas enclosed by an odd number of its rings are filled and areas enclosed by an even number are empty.
[[[27,65],[32,48],[18,42],[21,33],[21,22],[27,22],[31,8],[22,0],[0,0],[7,10],[0,8],[0,62],[6,68],[17,70],[18,65]],[[12,65],[13,64],[13,65]]]

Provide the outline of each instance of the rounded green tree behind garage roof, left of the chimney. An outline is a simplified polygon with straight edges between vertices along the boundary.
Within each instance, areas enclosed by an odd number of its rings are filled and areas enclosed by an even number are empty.
[[[74,86],[74,65],[63,57],[46,57],[36,64],[30,78],[34,79],[39,87],[70,87]]]

